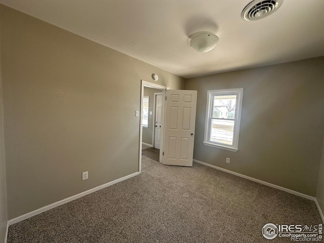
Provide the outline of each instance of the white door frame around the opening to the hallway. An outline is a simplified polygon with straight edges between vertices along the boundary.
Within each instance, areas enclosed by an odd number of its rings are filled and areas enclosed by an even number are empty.
[[[142,127],[142,116],[143,116],[143,96],[144,96],[144,87],[147,88],[153,88],[153,89],[159,89],[162,91],[162,99],[165,99],[165,90],[168,89],[166,86],[162,85],[157,85],[154,83],[147,82],[145,80],[141,80],[141,101],[140,101],[140,141],[139,141],[139,168],[138,171],[139,173],[142,172],[142,139],[143,139],[143,127]],[[161,117],[161,134],[164,133],[164,102],[162,102],[162,117]],[[160,142],[160,156],[159,156],[159,161],[163,161],[163,137],[161,137],[161,142]]]

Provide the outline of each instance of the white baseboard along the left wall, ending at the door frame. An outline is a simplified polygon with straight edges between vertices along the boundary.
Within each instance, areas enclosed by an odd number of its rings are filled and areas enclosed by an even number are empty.
[[[97,186],[97,187],[95,187],[95,188],[92,188],[92,189],[90,189],[90,190],[87,190],[87,191],[81,192],[81,193],[76,194],[76,195],[74,195],[74,196],[70,196],[70,197],[65,198],[65,199],[63,199],[63,200],[57,201],[56,203],[50,204],[50,205],[45,206],[45,207],[40,208],[40,209],[36,209],[36,210],[34,210],[34,211],[32,211],[32,212],[29,212],[29,213],[27,213],[27,214],[24,214],[24,215],[18,216],[17,218],[14,218],[14,219],[8,220],[8,223],[9,223],[9,225],[12,225],[12,224],[18,223],[18,222],[20,222],[20,221],[23,221],[23,220],[25,220],[25,219],[28,219],[28,218],[30,218],[30,217],[33,217],[33,216],[35,216],[35,215],[37,215],[37,214],[41,214],[41,213],[43,213],[43,212],[45,212],[45,211],[48,211],[48,210],[53,209],[53,208],[56,208],[56,207],[58,207],[58,206],[60,206],[60,205],[66,204],[66,203],[68,203],[69,201],[73,201],[73,200],[75,200],[75,199],[77,199],[77,198],[83,197],[83,196],[88,195],[88,194],[90,194],[90,193],[92,193],[92,192],[95,192],[95,191],[98,191],[98,190],[103,189],[103,188],[105,188],[105,187],[111,186],[111,185],[116,184],[116,183],[118,183],[118,182],[120,182],[120,181],[127,180],[127,179],[132,178],[132,177],[134,177],[134,176],[137,176],[137,175],[139,175],[139,174],[140,174],[139,172],[135,172],[135,173],[133,173],[133,174],[131,174],[131,175],[121,177],[121,178],[119,178],[119,179],[116,179],[116,180],[114,180],[114,181],[108,182],[108,183],[103,184],[103,185],[101,185],[101,186]]]

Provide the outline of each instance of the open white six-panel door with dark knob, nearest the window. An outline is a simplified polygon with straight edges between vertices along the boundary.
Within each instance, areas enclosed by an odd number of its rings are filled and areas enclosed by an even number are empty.
[[[192,167],[197,91],[166,90],[164,165]]]

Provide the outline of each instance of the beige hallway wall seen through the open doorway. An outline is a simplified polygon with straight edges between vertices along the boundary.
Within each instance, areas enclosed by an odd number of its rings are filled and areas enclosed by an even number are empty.
[[[149,115],[148,118],[148,128],[143,128],[143,137],[142,142],[152,145],[153,138],[153,121],[154,121],[154,93],[161,93],[161,90],[152,89],[148,87],[144,87],[144,96],[149,96],[149,111],[152,111],[152,115]]]

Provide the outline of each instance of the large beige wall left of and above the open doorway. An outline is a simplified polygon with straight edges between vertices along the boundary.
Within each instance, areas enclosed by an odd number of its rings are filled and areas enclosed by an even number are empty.
[[[170,89],[184,79],[0,11],[9,219],[137,172],[141,79],[156,73]]]

